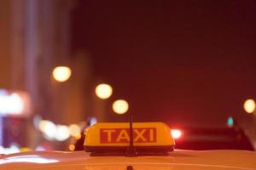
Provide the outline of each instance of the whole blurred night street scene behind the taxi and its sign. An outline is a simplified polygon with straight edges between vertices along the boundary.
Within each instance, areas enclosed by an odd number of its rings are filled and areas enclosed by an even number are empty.
[[[75,150],[127,114],[253,150],[255,44],[255,1],[1,0],[0,152]]]

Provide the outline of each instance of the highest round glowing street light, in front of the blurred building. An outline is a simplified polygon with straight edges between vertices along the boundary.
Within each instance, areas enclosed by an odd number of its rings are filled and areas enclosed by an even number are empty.
[[[58,82],[66,82],[71,76],[71,69],[67,66],[57,66],[52,72],[53,77]]]

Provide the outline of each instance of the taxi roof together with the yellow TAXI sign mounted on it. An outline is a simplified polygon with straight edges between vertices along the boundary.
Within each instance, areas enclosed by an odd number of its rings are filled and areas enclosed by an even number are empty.
[[[250,150],[174,150],[161,122],[97,123],[82,151],[32,151],[0,157],[0,170],[256,170]]]

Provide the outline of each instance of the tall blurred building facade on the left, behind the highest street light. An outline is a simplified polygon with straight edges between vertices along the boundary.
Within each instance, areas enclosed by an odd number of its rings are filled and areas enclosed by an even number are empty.
[[[90,59],[70,51],[70,15],[76,1],[0,1],[0,88],[22,90],[32,99],[32,115],[58,124],[81,122],[93,116]],[[57,65],[72,69],[67,82],[56,82]],[[34,128],[26,144],[40,136]]]

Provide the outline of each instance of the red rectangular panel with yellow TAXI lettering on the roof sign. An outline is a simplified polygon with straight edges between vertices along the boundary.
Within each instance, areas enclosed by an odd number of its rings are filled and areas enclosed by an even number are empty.
[[[101,128],[100,142],[129,143],[129,128]],[[156,128],[133,128],[134,143],[156,142]]]

